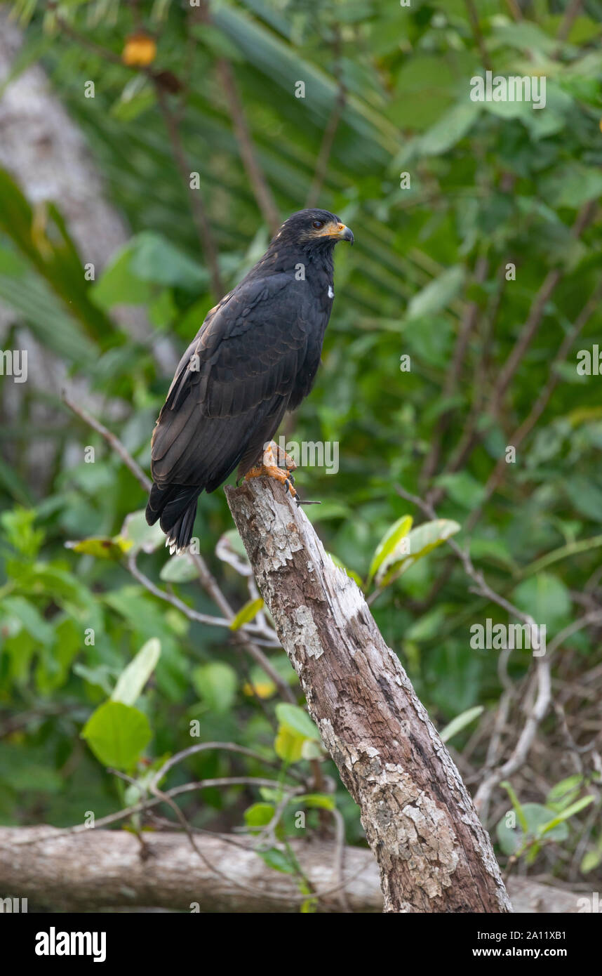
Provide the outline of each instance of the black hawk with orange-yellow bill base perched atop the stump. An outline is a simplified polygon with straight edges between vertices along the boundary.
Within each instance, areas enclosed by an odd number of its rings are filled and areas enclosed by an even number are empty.
[[[152,436],[146,521],[172,551],[197,498],[242,476],[315,381],[333,305],[333,251],[351,231],[326,210],[285,221],[261,261],[212,308],[181,357]]]

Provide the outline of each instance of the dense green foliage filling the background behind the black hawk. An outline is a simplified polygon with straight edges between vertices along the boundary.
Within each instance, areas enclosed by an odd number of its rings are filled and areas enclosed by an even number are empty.
[[[545,625],[548,639],[602,597],[602,379],[576,369],[578,350],[599,343],[599,302],[564,361],[552,365],[599,280],[595,208],[579,235],[572,228],[602,188],[600,4],[583,5],[565,41],[557,36],[562,4],[531,4],[519,22],[497,0],[476,6],[496,72],[545,73],[544,109],[470,101],[470,78],[484,68],[460,0],[410,8],[376,0],[222,0],[212,5],[212,25],[193,31],[186,5],[137,7],[157,37],[153,68],[182,83],[164,99],[181,108],[181,142],[190,171],[200,174],[225,288],[258,260],[269,231],[217,60],[232,64],[258,163],[283,217],[307,199],[343,84],[319,205],[353,228],[356,245],[337,254],[322,367],[286,436],[339,445],[336,474],[296,472],[301,497],[322,502],[307,515],[335,562],[366,590],[384,638],[444,737],[459,751],[472,743],[464,761],[475,783],[491,713],[508,681],[522,688],[533,659],[514,650],[504,671],[498,652],[469,646],[471,625],[510,617],[473,591],[446,540],[469,546],[493,589]],[[155,86],[145,73],[98,54],[104,48],[118,61],[133,29],[131,7],[112,4],[107,17],[101,0],[60,5],[60,16],[97,48],[61,30],[57,11],[42,2],[20,0],[16,8],[25,42],[14,72],[42,59],[131,236],[88,281],[61,202],[28,202],[16,176],[1,172],[0,301],[15,323],[3,343],[17,348],[26,328],[49,373],[58,356],[82,404],[147,470],[171,378],[160,343],[169,337],[181,355],[219,296]],[[94,99],[84,98],[90,79]],[[304,99],[295,96],[299,79]],[[542,283],[556,272],[539,328],[494,409],[504,365]],[[123,305],[143,310],[144,338],[117,324],[127,321]],[[401,356],[409,357],[409,370],[400,369]],[[489,495],[492,472],[552,379],[541,416]],[[0,383],[4,390],[13,380],[2,375]],[[304,811],[309,830],[324,829],[319,817],[328,820],[336,807],[348,840],[361,842],[363,834],[302,708],[288,659],[264,648],[294,689],[295,706],[279,701],[273,678],[256,663],[249,667],[227,628],[204,627],[182,612],[182,605],[218,610],[198,587],[190,557],[166,556],[159,526],[146,525],[144,492],[100,436],[60,405],[52,387],[28,382],[17,393],[19,409],[7,410],[10,424],[0,431],[0,821],[66,826],[86,810],[112,812],[124,797],[104,767],[134,773],[140,796],[145,763],[189,747],[196,723],[193,742],[234,741],[279,764],[282,790],[287,771],[316,776],[316,762],[334,778],[336,793],[319,783],[303,787],[277,827],[279,846],[271,838],[261,851],[309,895],[287,847],[300,836],[295,811]],[[94,463],[84,460],[87,446],[95,448]],[[439,517],[409,511],[396,484],[421,497],[434,493]],[[221,491],[201,499],[195,536],[238,612],[232,630],[256,625],[261,601],[248,591],[248,560]],[[171,604],[132,579],[133,554],[140,571],[175,598]],[[599,722],[600,661],[599,630],[588,624],[571,630],[550,662],[554,694],[563,683],[571,689],[563,708],[580,750]],[[516,706],[512,733],[524,718]],[[578,871],[568,867],[576,851],[583,874],[599,867],[602,836],[592,802],[583,803],[596,782],[591,751],[578,753],[583,773],[575,778],[558,722],[546,715],[529,757],[537,775],[517,774],[516,791],[525,797],[516,800],[518,827],[499,836],[508,856],[541,857],[542,865],[562,847],[550,871],[567,879],[567,871]],[[207,751],[189,756],[182,776],[239,775],[241,762],[251,775],[265,773],[257,758]],[[545,795],[545,784],[557,779]],[[269,820],[253,818],[265,818],[268,808],[273,816],[283,793],[260,796],[261,803],[257,790],[231,787],[179,802],[199,826],[227,829],[241,824],[248,807],[245,822],[261,833]],[[304,910],[313,907],[308,897]]]

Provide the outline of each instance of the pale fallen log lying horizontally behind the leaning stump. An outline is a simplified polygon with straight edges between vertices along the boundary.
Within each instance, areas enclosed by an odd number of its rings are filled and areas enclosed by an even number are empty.
[[[32,840],[37,838],[37,842]],[[288,874],[272,871],[253,850],[253,841],[224,835],[196,834],[208,863],[220,864],[217,877],[190,854],[184,834],[145,833],[144,848],[127,831],[85,831],[65,836],[51,827],[0,828],[0,888],[5,895],[26,898],[29,912],[88,912],[100,909],[163,908],[166,911],[228,914],[299,912],[299,890]],[[315,888],[338,881],[335,845],[295,840],[304,874]],[[379,870],[370,851],[345,847],[342,879],[348,911],[382,911]],[[236,879],[255,894],[230,884]],[[578,895],[511,877],[508,889],[515,912],[577,913]],[[290,895],[290,903],[287,902]],[[319,913],[340,913],[339,893],[320,899]],[[5,912],[6,912],[5,908]]]

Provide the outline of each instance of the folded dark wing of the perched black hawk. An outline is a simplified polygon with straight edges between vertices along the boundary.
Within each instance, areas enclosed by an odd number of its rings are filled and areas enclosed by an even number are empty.
[[[158,485],[211,491],[275,433],[313,339],[300,314],[306,290],[292,283],[286,274],[245,281],[207,316],[153,433]]]

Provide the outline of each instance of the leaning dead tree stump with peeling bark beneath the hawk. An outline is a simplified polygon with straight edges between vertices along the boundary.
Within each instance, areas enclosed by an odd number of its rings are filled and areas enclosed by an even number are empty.
[[[264,478],[226,488],[265,600],[381,869],[385,912],[505,913],[489,835],[364,597]]]

